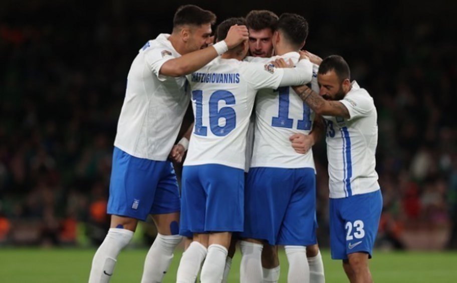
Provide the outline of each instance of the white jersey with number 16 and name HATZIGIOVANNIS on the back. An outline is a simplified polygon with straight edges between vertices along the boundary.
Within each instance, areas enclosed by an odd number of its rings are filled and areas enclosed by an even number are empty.
[[[297,82],[309,81],[311,63],[300,65],[296,70],[285,70],[271,64],[217,58],[187,76],[195,125],[184,165],[222,164],[244,170],[246,136],[257,91],[290,83],[287,76],[283,78],[286,72],[293,72]]]

